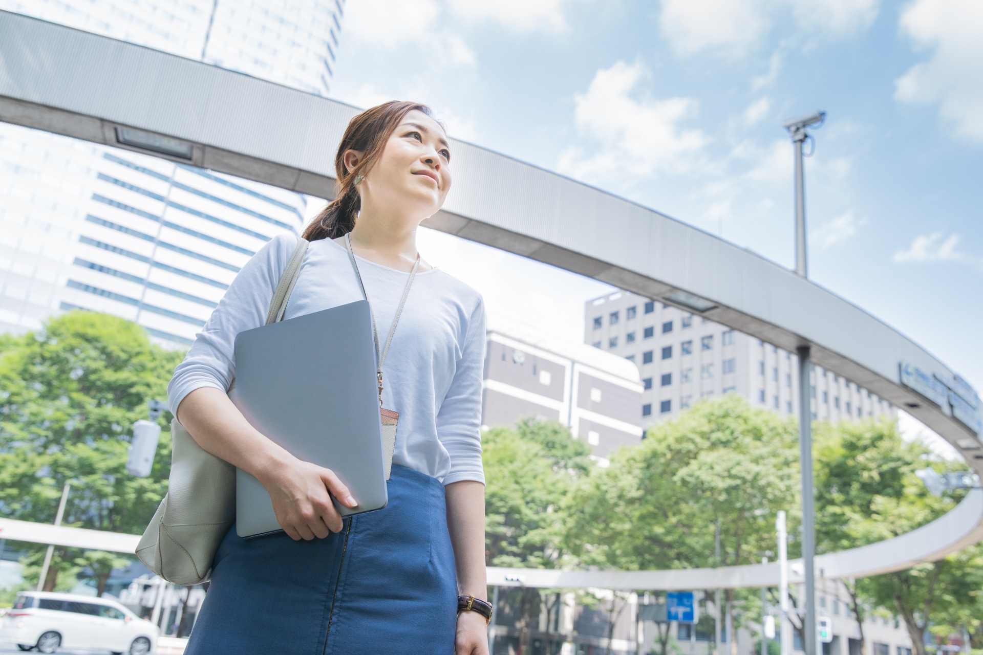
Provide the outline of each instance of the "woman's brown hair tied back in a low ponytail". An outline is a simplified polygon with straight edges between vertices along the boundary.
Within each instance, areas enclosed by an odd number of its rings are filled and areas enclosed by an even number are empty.
[[[365,110],[348,123],[345,136],[341,137],[338,152],[334,155],[337,195],[311,221],[304,231],[304,239],[337,239],[352,231],[362,204],[355,180],[376,165],[389,136],[413,110],[434,117],[434,112],[427,105],[393,100]],[[362,160],[351,171],[345,168],[344,156],[348,150],[363,153]]]

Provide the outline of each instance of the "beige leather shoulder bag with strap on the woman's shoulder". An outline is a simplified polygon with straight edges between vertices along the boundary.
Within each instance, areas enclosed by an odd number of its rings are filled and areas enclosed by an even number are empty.
[[[307,246],[301,239],[287,262],[266,325],[283,319]],[[202,450],[177,418],[171,421],[171,446],[167,495],[146,526],[137,557],[169,582],[201,584],[236,519],[236,467]]]

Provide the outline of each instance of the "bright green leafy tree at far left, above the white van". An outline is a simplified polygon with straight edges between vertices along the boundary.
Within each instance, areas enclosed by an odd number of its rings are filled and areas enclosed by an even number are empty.
[[[70,482],[63,523],[143,532],[167,489],[170,438],[162,432],[146,478],[125,470],[129,439],[133,423],[146,417],[146,401],[166,398],[182,356],[151,345],[135,323],[95,312],[71,311],[42,331],[4,335],[0,516],[52,522]],[[165,412],[160,424],[166,428],[170,418]],[[45,586],[57,585],[52,576],[82,557],[56,551]]]

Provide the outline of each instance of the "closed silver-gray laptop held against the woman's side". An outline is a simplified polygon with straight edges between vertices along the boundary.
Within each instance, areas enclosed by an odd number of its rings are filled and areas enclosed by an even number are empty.
[[[294,456],[333,470],[358,506],[387,502],[369,302],[359,300],[240,332],[235,404],[253,427]],[[333,499],[332,499],[333,500]],[[260,481],[236,469],[236,532],[282,529]]]

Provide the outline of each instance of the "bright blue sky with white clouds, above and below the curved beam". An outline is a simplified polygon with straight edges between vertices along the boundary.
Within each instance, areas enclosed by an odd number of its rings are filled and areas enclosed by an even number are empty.
[[[452,136],[785,266],[781,122],[827,111],[806,163],[810,277],[983,388],[977,0],[352,0],[344,27],[334,97],[427,102]],[[608,289],[443,235],[422,246],[492,315],[571,339]]]

